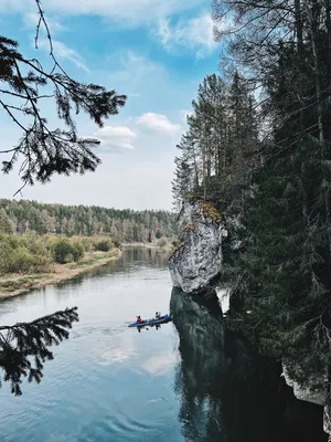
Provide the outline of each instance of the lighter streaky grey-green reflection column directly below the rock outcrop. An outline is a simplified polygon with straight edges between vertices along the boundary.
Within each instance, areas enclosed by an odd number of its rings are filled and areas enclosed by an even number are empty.
[[[188,441],[225,441],[218,376],[224,370],[224,333],[215,298],[204,306],[173,290],[171,311],[180,335],[181,365],[175,376],[179,419]],[[210,315],[210,311],[214,316]]]

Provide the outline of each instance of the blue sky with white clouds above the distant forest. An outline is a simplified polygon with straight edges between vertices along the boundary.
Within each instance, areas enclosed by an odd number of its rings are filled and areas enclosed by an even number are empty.
[[[54,176],[25,187],[22,197],[41,202],[117,209],[171,209],[177,144],[185,116],[206,74],[217,72],[209,0],[42,0],[54,52],[70,75],[128,96],[100,129],[76,118],[79,135],[100,139],[102,165],[84,176]],[[20,43],[26,57],[47,63],[44,33],[34,49],[35,0],[0,0],[1,34]],[[44,112],[58,127],[50,103]],[[20,130],[0,113],[1,149]],[[7,159],[0,155],[1,161]],[[20,188],[18,170],[0,173],[0,198]]]

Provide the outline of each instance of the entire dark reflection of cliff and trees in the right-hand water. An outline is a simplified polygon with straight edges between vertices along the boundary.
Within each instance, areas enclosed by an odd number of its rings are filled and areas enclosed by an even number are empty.
[[[216,295],[206,301],[173,288],[171,313],[180,337],[175,389],[186,441],[327,441],[322,408],[296,400],[279,368],[223,327]]]

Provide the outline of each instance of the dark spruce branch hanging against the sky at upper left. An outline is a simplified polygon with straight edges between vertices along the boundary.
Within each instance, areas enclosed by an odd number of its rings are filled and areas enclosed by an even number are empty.
[[[15,146],[2,151],[7,156],[2,171],[9,173],[15,161],[22,159],[20,176],[23,187],[33,185],[35,180],[46,182],[54,173],[94,171],[100,160],[93,149],[100,141],[78,136],[74,114],[84,112],[102,127],[126,103],[125,95],[96,84],[79,83],[63,71],[53,53],[41,1],[35,2],[40,18],[35,44],[44,28],[53,69],[45,69],[36,57],[25,57],[19,52],[18,42],[0,35],[1,108],[22,131]],[[52,129],[45,118],[43,109],[45,102],[50,101],[62,120],[61,128]]]

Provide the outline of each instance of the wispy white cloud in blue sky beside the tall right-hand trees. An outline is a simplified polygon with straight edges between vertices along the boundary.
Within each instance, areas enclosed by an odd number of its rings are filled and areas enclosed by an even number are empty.
[[[175,52],[181,48],[194,52],[197,59],[203,59],[217,48],[210,13],[203,13],[188,21],[180,20],[175,24],[162,18],[159,20],[157,34],[169,52]]]

